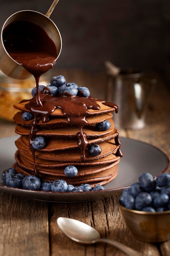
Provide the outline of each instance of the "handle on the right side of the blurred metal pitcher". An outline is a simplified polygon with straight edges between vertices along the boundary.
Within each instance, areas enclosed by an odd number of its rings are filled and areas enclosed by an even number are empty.
[[[145,97],[144,102],[142,101],[142,88],[141,82],[150,84],[150,88],[148,91],[147,97]],[[155,86],[157,84],[157,79],[134,79],[134,90],[135,90],[135,100],[136,100],[136,111],[139,118],[145,115],[148,103],[150,102],[150,98],[155,90]]]

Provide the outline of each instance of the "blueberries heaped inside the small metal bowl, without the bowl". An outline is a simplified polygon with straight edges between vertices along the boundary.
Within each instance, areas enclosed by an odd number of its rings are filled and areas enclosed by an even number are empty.
[[[147,212],[170,210],[170,173],[163,173],[155,181],[150,173],[142,173],[139,182],[124,189],[120,204],[128,209]]]

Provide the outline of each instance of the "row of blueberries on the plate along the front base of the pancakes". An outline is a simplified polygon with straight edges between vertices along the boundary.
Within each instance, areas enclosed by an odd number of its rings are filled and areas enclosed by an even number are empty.
[[[81,184],[73,186],[67,184],[65,180],[55,180],[54,182],[44,181],[34,175],[25,176],[22,173],[17,173],[15,168],[9,168],[2,173],[2,180],[7,186],[19,189],[52,191],[52,192],[84,192],[84,191],[101,191],[104,186],[97,184],[93,189],[90,184]]]

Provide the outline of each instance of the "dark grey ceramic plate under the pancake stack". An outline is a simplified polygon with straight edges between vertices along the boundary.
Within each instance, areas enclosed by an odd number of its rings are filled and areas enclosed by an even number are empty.
[[[16,147],[14,142],[17,138],[18,136],[0,139],[0,177],[2,172],[15,162]],[[158,148],[141,141],[123,137],[120,138],[120,141],[121,151],[124,156],[119,163],[118,175],[115,180],[105,186],[104,191],[79,193],[30,191],[5,186],[2,181],[0,181],[0,191],[49,202],[83,202],[121,194],[124,188],[138,181],[141,173],[148,172],[153,177],[157,177],[167,171],[169,159]]]

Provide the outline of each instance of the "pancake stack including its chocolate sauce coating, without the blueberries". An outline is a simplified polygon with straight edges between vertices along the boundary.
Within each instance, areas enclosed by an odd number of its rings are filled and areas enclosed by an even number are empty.
[[[25,175],[37,175],[43,181],[63,179],[78,186],[83,183],[104,185],[117,176],[122,156],[119,133],[114,127],[112,112],[117,105],[92,97],[40,95],[43,106],[36,106],[35,97],[14,105],[19,110],[14,116],[15,153],[14,168]],[[33,119],[24,121],[22,114],[31,112]],[[110,127],[99,130],[104,121]],[[36,137],[43,137],[45,146],[34,149]],[[89,148],[98,145],[101,152],[91,155]],[[68,177],[66,166],[76,166],[78,173]]]

